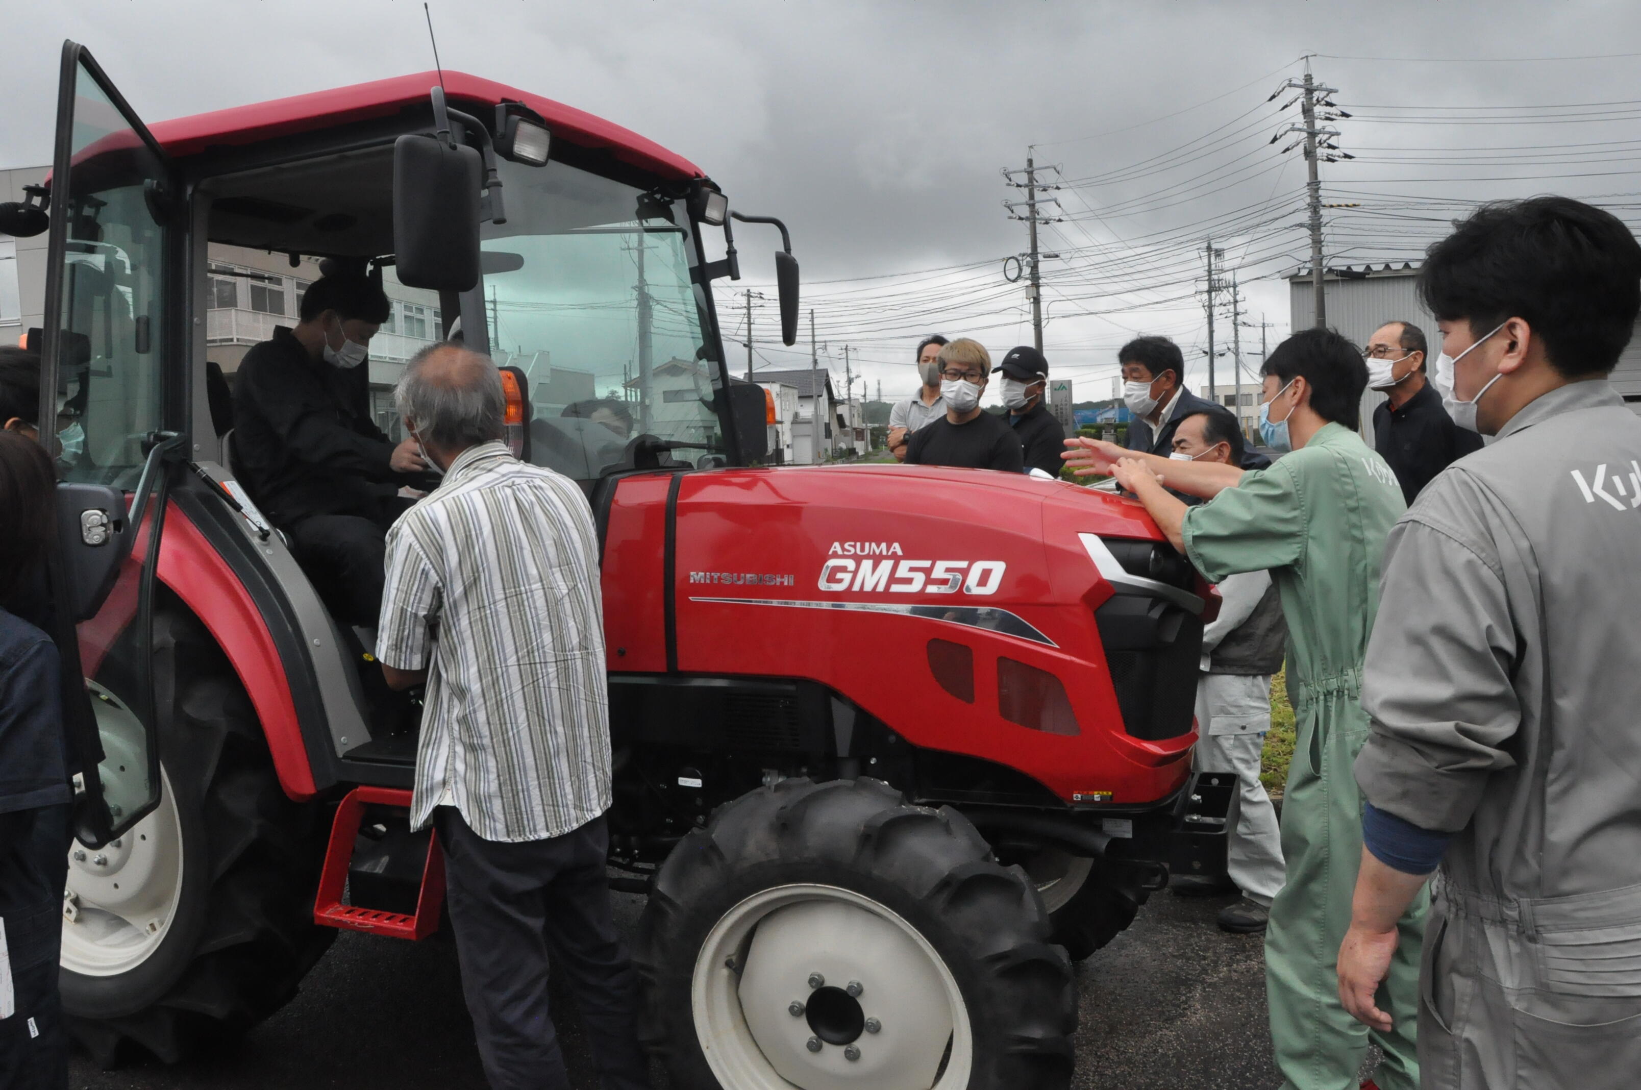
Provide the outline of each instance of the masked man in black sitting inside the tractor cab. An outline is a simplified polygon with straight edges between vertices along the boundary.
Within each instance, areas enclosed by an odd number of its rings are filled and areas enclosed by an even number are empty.
[[[258,506],[290,538],[338,621],[373,627],[384,537],[425,483],[414,438],[371,420],[364,368],[389,302],[364,276],[325,276],[302,294],[295,327],[245,355],[233,386],[233,456]]]

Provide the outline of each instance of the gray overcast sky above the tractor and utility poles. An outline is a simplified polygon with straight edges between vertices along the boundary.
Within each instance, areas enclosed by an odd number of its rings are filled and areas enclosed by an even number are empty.
[[[1308,254],[1295,227],[1305,164],[1280,154],[1290,141],[1268,144],[1298,108],[1265,98],[1303,74],[1306,53],[1355,115],[1337,126],[1359,159],[1323,164],[1324,199],[1360,205],[1329,212],[1331,263],[1418,258],[1467,202],[1503,195],[1600,195],[1641,222],[1633,2],[432,8],[446,69],[633,128],[699,164],[737,208],[783,217],[824,360],[842,379],[852,345],[884,396],[914,384],[921,332],[973,333],[993,355],[1029,343],[1024,291],[1001,266],[1026,228],[999,204],[1017,197],[999,169],[1024,166],[1029,144],[1081,179],[1055,194],[1065,222],[1044,231],[1062,254],[1044,266],[1045,351],[1080,401],[1109,396],[1132,332],[1175,337],[1201,381],[1193,292],[1209,230],[1252,320],[1283,335],[1280,274]],[[148,120],[432,67],[420,3],[10,3],[0,166],[51,158],[62,38],[87,44]],[[768,279],[771,240],[740,241],[748,281]],[[743,338],[724,305],[740,287],[720,294],[727,341]],[[806,343],[775,341],[773,304],[755,322],[760,368],[807,364]],[[732,361],[742,353],[729,346]]]

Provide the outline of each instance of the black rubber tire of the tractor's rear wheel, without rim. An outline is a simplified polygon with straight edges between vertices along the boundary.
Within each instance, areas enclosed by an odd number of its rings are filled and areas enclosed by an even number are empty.
[[[267,1018],[335,937],[313,924],[325,808],[279,786],[256,711],[210,634],[154,616],[159,757],[182,834],[169,932],[130,972],[61,973],[74,1036],[105,1067],[141,1046],[177,1062]]]

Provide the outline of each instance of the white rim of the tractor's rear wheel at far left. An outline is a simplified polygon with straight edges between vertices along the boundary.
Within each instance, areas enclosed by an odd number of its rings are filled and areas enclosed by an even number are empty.
[[[110,757],[130,767],[144,762],[141,724],[115,701],[98,708],[98,727]],[[130,724],[103,722],[108,714]],[[146,962],[164,942],[182,896],[182,822],[176,793],[159,772],[159,806],[121,837],[100,849],[79,840],[69,849],[69,882],[62,895],[64,969],[85,977],[117,977]]]

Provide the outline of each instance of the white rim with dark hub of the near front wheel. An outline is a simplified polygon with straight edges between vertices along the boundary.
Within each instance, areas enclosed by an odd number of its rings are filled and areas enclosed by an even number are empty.
[[[811,973],[822,978],[819,988]],[[850,983],[862,988],[845,1001]],[[845,1041],[855,1033],[848,1018],[842,1028],[837,1018],[817,1018],[822,1001],[827,1011],[871,1021]],[[743,900],[701,946],[691,1003],[696,1037],[724,1090],[968,1085],[973,1033],[957,978],[914,926],[853,890],[783,885]],[[794,1014],[793,1003],[806,1006]],[[811,1051],[822,1031],[832,1041]]]

